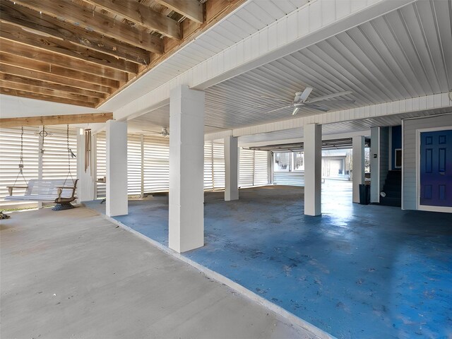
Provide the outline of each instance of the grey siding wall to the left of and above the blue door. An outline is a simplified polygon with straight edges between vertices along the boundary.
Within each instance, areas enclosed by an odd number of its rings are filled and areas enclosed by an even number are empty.
[[[403,121],[402,206],[404,210],[417,209],[416,153],[419,152],[419,150],[416,149],[416,130],[442,126],[452,126],[452,114]]]

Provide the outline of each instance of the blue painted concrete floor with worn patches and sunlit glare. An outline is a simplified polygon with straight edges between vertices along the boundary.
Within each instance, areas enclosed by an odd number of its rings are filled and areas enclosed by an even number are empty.
[[[323,184],[321,217],[303,215],[302,187],[222,198],[206,193],[206,246],[188,258],[338,338],[452,338],[452,215],[354,204],[349,182]],[[166,196],[115,219],[167,245]]]

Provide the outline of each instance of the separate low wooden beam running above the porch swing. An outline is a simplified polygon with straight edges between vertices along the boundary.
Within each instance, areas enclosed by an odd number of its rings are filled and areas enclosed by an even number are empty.
[[[41,117],[22,117],[0,119],[3,128],[17,126],[50,126],[71,124],[94,124],[113,119],[113,113],[85,113],[65,115],[44,115]]]

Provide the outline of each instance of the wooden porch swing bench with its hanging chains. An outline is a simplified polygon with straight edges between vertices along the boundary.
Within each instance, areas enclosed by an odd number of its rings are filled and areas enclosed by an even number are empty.
[[[42,138],[42,147],[44,147],[44,138],[48,135],[45,126],[42,126],[40,136]],[[23,126],[20,133],[20,160],[19,172],[13,186],[8,187],[9,196],[5,200],[11,201],[53,201],[56,203],[52,210],[69,210],[73,208],[71,201],[76,200],[76,187],[78,179],[73,179],[71,174],[71,157],[75,157],[71,148],[69,148],[69,125],[66,128],[66,144],[68,150],[68,174],[66,179],[30,179],[27,183],[23,174]],[[41,152],[43,152],[43,148]],[[26,186],[16,186],[16,183],[22,177]],[[70,179],[69,179],[70,177]],[[13,196],[13,189],[25,189],[23,196]]]

